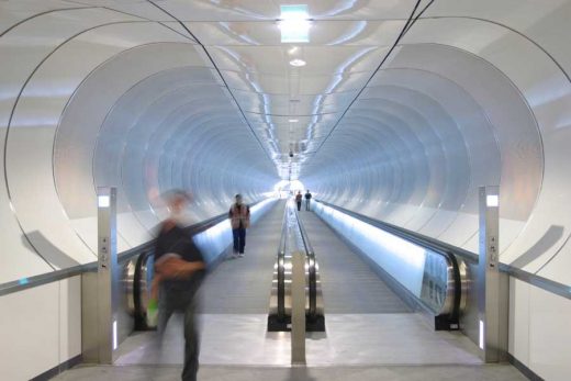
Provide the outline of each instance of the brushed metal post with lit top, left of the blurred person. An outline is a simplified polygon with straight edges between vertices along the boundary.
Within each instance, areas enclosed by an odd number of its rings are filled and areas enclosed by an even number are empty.
[[[113,363],[117,347],[116,189],[98,188],[98,269],[81,278],[83,361]]]

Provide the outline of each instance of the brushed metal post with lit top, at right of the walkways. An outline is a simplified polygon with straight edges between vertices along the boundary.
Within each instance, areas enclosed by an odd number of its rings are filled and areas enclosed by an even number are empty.
[[[480,187],[478,312],[485,362],[506,360],[510,279],[500,272],[500,188]]]

